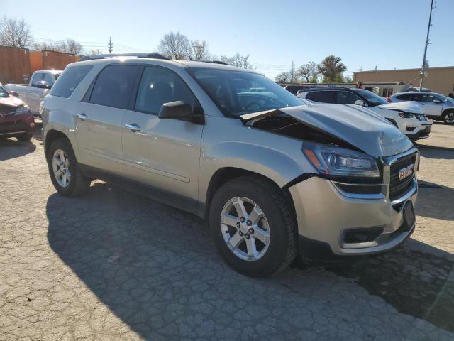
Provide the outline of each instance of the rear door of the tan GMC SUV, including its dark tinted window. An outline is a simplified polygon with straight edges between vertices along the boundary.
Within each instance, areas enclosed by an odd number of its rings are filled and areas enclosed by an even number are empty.
[[[122,174],[123,115],[138,75],[137,65],[104,67],[76,107],[76,139],[80,163]]]

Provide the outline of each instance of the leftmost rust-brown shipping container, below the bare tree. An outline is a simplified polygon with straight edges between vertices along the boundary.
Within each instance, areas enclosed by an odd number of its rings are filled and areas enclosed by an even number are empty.
[[[0,83],[23,83],[31,73],[28,49],[0,46]]]

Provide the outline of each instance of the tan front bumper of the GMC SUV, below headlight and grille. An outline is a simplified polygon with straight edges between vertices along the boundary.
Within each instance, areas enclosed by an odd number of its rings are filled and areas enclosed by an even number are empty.
[[[406,226],[403,209],[407,202],[416,204],[416,177],[411,188],[394,201],[389,200],[386,180],[382,186],[384,190],[377,194],[345,193],[333,181],[314,176],[290,187],[301,256],[320,260],[318,251],[323,248],[323,254],[329,249],[337,256],[377,254],[404,242],[415,227]],[[373,240],[352,242],[346,236],[355,231],[378,233],[372,234]]]

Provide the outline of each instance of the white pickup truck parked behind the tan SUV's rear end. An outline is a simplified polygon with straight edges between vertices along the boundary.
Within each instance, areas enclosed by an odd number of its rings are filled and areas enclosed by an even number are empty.
[[[14,91],[18,93],[19,98],[23,102],[26,102],[31,112],[35,116],[39,116],[40,102],[48,94],[49,89],[52,88],[52,85],[54,85],[55,80],[57,80],[61,73],[62,71],[57,70],[35,71],[28,84],[7,84],[5,85],[5,89],[9,92]]]

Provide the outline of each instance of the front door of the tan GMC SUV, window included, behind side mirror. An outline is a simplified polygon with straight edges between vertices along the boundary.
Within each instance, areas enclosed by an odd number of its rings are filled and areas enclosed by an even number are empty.
[[[157,114],[167,102],[182,101],[201,113],[200,104],[184,80],[167,67],[144,67],[137,87],[123,118],[124,173],[127,178],[192,198],[195,203],[204,126],[159,119]]]

